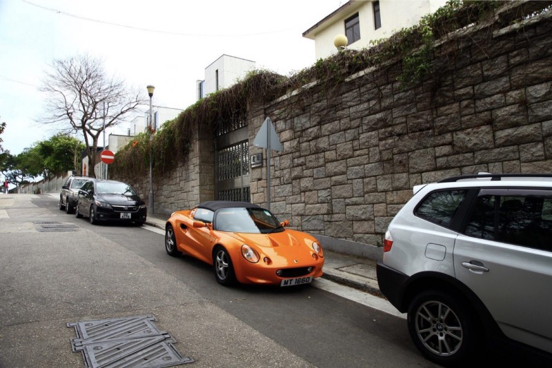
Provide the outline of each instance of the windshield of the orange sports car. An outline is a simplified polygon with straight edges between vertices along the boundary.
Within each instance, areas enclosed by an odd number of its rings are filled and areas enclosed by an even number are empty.
[[[273,214],[262,208],[224,208],[217,211],[215,229],[221,232],[268,234],[283,232],[284,227]]]

